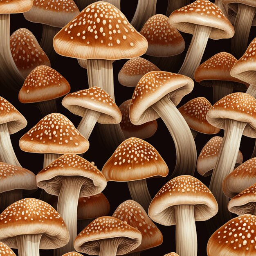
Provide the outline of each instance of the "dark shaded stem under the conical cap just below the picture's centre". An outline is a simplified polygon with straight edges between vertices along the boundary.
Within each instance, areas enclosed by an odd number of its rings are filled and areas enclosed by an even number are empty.
[[[148,211],[149,204],[152,201],[148,191],[147,180],[133,180],[127,182],[132,200],[141,204],[145,211]]]

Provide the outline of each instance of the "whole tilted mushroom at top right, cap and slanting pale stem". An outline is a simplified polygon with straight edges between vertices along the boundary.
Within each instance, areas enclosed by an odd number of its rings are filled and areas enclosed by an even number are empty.
[[[234,36],[234,28],[218,6],[208,0],[192,4],[171,13],[168,22],[182,32],[193,34],[179,74],[193,79],[209,38],[219,40]]]

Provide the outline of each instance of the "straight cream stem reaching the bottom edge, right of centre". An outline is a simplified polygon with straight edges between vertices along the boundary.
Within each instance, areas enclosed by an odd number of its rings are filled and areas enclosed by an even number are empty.
[[[193,205],[177,205],[176,221],[176,252],[184,256],[197,256],[197,234]]]

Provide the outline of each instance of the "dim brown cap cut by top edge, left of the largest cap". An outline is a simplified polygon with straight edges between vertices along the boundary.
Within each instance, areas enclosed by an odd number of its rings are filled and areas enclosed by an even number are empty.
[[[64,27],[79,9],[73,0],[34,0],[32,8],[24,13],[25,19],[52,27]]]

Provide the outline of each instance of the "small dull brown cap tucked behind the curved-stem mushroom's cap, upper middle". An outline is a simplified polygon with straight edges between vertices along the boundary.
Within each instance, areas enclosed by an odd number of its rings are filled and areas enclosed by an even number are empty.
[[[150,71],[160,71],[160,69],[144,58],[132,58],[126,61],[119,71],[118,81],[121,85],[136,87],[141,77]]]

